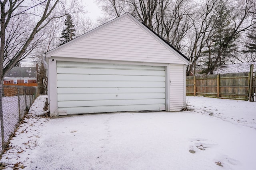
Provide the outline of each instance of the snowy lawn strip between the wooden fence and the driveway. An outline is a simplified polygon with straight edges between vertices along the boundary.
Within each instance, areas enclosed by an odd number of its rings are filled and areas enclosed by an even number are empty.
[[[194,112],[256,129],[256,103],[240,100],[187,96]]]

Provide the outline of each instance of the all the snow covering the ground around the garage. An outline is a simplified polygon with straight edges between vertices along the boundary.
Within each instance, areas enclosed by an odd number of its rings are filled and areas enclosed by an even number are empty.
[[[45,98],[36,99],[11,141],[12,149],[3,154],[1,162],[8,164],[7,169],[253,170],[256,166],[254,102],[187,97],[191,111],[34,116],[43,111]]]

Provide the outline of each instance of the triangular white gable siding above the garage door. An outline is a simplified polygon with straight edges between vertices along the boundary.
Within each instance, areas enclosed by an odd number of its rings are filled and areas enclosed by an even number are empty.
[[[182,56],[129,15],[102,26],[83,35],[84,38],[78,37],[79,41],[74,39],[74,43],[51,56],[185,64]]]

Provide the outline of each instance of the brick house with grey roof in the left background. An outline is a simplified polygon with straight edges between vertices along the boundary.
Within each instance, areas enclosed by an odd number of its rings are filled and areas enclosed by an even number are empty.
[[[4,84],[37,83],[37,67],[13,67],[4,77]]]

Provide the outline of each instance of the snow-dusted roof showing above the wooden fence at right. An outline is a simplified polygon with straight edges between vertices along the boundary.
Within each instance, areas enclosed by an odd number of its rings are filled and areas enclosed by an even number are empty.
[[[254,64],[254,72],[256,71],[256,62],[250,63],[237,63],[222,65],[214,70],[213,74],[226,74],[226,73],[236,73],[236,72],[250,72],[250,65]]]

